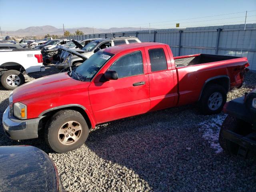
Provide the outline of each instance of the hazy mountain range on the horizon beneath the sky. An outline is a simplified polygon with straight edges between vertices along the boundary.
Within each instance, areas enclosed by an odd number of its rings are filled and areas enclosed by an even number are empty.
[[[110,32],[122,32],[122,31],[136,31],[136,30],[148,30],[149,28],[134,28],[134,27],[122,27],[122,28],[90,28],[90,27],[78,27],[78,28],[65,28],[65,31],[75,33],[76,30],[84,32],[84,34],[94,33],[110,33]],[[2,31],[4,34],[11,36],[31,36],[31,35],[61,35],[63,34],[63,28],[56,28],[54,26],[31,26],[25,29],[19,29],[16,31]]]

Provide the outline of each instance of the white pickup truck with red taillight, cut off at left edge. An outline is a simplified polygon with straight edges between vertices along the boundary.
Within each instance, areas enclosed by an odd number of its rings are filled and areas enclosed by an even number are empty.
[[[20,44],[0,44],[1,84],[8,90],[25,83],[23,72],[44,71],[40,50],[23,48]]]

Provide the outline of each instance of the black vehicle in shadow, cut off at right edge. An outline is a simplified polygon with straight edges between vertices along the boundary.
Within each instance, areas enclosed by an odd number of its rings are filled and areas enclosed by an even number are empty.
[[[228,114],[220,129],[220,146],[228,154],[246,158],[256,154],[256,88],[227,102]]]

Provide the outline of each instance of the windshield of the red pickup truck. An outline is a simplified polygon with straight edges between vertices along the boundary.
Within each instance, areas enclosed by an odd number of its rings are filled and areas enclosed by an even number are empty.
[[[114,54],[98,51],[85,60],[74,71],[70,72],[70,76],[81,81],[90,81],[112,56],[114,56]]]

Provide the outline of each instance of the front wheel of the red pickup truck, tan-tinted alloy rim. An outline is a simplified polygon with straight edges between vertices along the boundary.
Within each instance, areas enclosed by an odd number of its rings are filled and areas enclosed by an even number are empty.
[[[80,130],[76,131],[75,129]],[[71,137],[72,134],[73,137]],[[61,110],[48,120],[44,135],[46,143],[52,150],[57,153],[66,153],[84,144],[89,135],[89,128],[86,120],[79,112],[75,110]],[[75,141],[73,138],[78,139]]]

